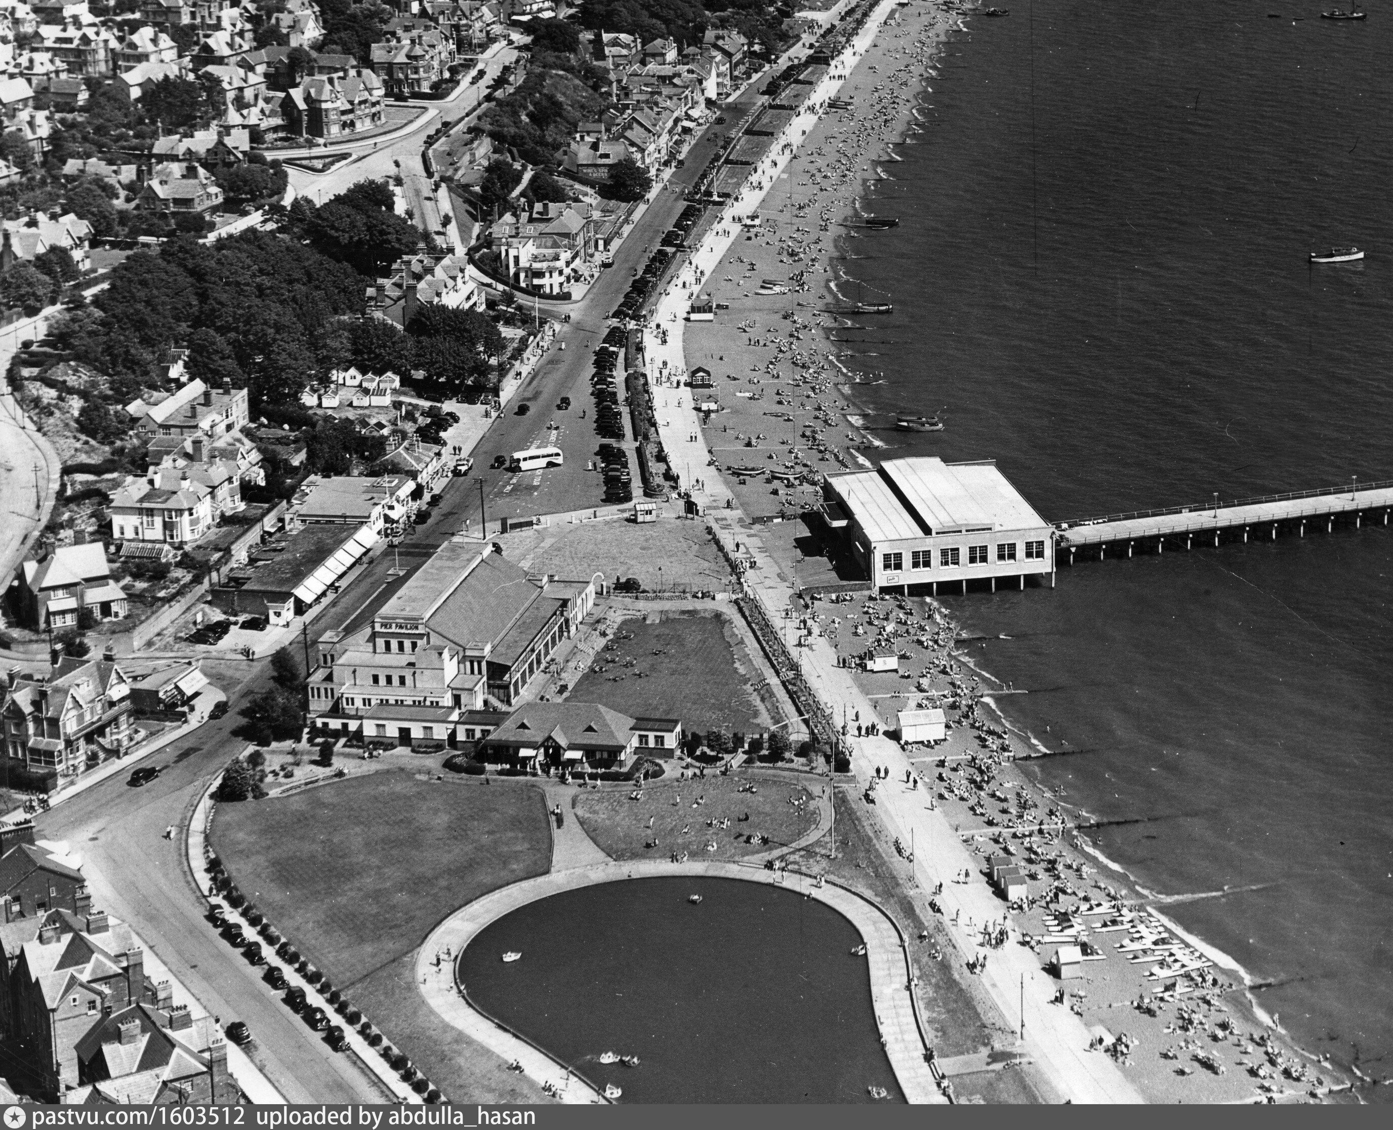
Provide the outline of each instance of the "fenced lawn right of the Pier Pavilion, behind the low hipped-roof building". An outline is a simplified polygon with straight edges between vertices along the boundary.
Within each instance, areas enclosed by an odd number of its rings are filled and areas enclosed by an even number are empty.
[[[756,669],[724,616],[664,613],[656,624],[625,620],[566,697],[630,716],[680,718],[688,732],[751,734],[769,725],[752,677]]]

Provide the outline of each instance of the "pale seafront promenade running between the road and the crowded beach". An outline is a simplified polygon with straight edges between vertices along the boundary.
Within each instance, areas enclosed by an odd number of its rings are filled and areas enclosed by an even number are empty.
[[[894,7],[893,3],[885,3],[876,10],[847,53],[833,61],[827,78],[819,84],[809,105],[819,105],[834,96],[841,81],[865,54]],[[780,170],[791,159],[791,152],[784,150],[786,144],[797,145],[815,123],[816,116],[812,113],[800,114],[790,123],[770,148],[772,156],[755,170],[751,187],[729,205],[723,219],[712,226],[708,238],[659,300],[653,320],[667,332],[667,343],[663,344],[657,334],[648,334],[645,344],[651,358],[649,372],[659,372],[662,361],[667,362],[669,373],[685,371],[683,316],[687,312],[688,295],[710,276],[733,244],[738,233],[738,224],[733,217],[759,206],[768,187],[777,183]],[[692,290],[684,290],[683,281],[694,284]],[[708,465],[710,451],[702,438],[691,393],[674,387],[669,390],[667,401],[667,405],[659,410],[659,426],[671,465],[702,468],[692,475],[699,483],[694,496],[708,507],[713,529],[726,546],[733,549],[738,542],[740,556],[755,562],[755,567],[744,574],[744,582],[749,595],[759,599],[770,619],[777,623],[784,609],[790,606],[794,594],[793,581],[780,573],[775,557],[765,549],[758,529],[745,521],[717,471]],[[691,489],[694,482],[687,482],[684,486]],[[825,638],[815,637],[812,645],[801,649],[801,653],[804,674],[834,715],[846,708],[848,712],[861,711],[864,716],[875,718],[871,701],[857,687],[851,673],[837,666],[834,649]],[[900,748],[887,738],[854,738],[851,745],[853,771],[861,789],[869,784],[876,766],[887,766],[892,780],[903,780],[905,771],[911,768]],[[905,843],[918,844],[917,882],[925,889],[943,883],[939,904],[950,921],[956,914],[963,927],[954,932],[960,954],[964,957],[975,954],[976,929],[981,924],[1004,914],[1004,904],[990,892],[976,869],[981,861],[963,846],[942,811],[928,807],[929,791],[925,789],[901,793],[900,789],[886,783],[876,790],[876,797],[875,811],[886,830],[900,836]],[[972,876],[971,882],[954,882],[964,868]],[[968,924],[972,924],[971,928]],[[1110,1059],[1088,1051],[1089,1032],[1082,1020],[1064,1007],[1048,1003],[1057,985],[1042,971],[1034,952],[1014,942],[993,950],[982,981],[1011,1027],[1020,1031],[1024,1021],[1022,1051],[1028,1052],[1048,1074],[1060,1099],[1110,1104],[1142,1101],[1137,1088]]]

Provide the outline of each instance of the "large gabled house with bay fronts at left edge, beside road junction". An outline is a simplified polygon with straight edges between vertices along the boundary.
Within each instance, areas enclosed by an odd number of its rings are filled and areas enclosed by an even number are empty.
[[[61,656],[47,674],[11,670],[4,706],[10,765],[74,777],[135,741],[131,688],[106,659]]]

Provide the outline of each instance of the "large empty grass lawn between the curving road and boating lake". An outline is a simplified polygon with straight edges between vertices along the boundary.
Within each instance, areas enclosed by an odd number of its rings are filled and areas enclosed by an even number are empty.
[[[212,839],[242,893],[350,995],[451,911],[552,864],[539,790],[408,771],[219,805]]]

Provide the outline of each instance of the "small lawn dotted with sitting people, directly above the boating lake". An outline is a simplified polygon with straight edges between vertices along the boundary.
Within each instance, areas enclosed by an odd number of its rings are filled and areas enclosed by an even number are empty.
[[[754,784],[758,791],[738,791],[745,784]],[[648,784],[641,791],[642,800],[630,800],[630,796],[628,791],[584,791],[574,801],[581,826],[616,860],[666,860],[673,851],[688,851],[694,860],[740,860],[794,843],[816,826],[819,815],[816,803],[797,782],[740,772]],[[705,797],[705,803],[698,804],[699,797]],[[790,798],[805,803],[790,804]],[[741,821],[745,812],[749,819]],[[708,825],[708,821],[726,818],[730,828]],[[755,833],[769,836],[769,843],[747,844],[745,836]],[[656,847],[644,846],[655,837]],[[715,843],[716,850],[706,851],[708,843]]]

